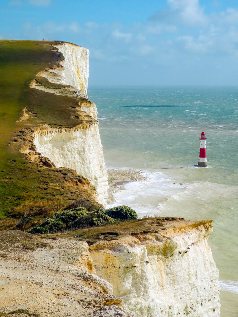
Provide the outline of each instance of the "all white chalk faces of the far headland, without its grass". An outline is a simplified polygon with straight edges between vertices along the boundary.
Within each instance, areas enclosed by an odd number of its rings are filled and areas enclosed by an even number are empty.
[[[57,68],[44,70],[37,76],[68,87],[48,88],[37,84],[35,80],[30,86],[50,93],[84,97],[84,100],[79,100],[76,110],[87,112],[96,119],[96,105],[87,99],[89,50],[65,42],[54,46],[64,59]],[[33,136],[38,152],[48,157],[56,167],[74,169],[79,175],[88,178],[96,188],[98,202],[106,204],[108,176],[97,121],[86,127],[37,130]]]

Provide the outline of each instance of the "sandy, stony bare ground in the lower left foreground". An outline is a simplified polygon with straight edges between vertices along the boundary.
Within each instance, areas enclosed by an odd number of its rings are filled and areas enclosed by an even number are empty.
[[[93,316],[95,310],[110,304],[122,306],[122,301],[110,294],[109,282],[94,274],[86,242],[35,240],[20,231],[1,234],[0,312],[27,309],[41,317],[83,317]],[[23,247],[26,242],[30,249]],[[104,317],[103,312],[101,315]]]

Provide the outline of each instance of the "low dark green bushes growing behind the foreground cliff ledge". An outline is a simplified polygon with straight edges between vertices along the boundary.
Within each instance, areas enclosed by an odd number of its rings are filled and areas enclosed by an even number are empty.
[[[134,219],[137,219],[136,211],[128,206],[117,206],[107,210],[100,208],[94,211],[88,211],[84,207],[77,207],[56,212],[29,232],[34,234],[55,233]]]

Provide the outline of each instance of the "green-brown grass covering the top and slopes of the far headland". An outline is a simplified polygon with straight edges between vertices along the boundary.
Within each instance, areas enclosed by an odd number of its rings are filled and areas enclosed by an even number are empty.
[[[30,82],[39,71],[62,58],[52,51],[52,43],[55,42],[0,40],[0,219],[11,215],[14,208],[25,201],[45,200],[47,203],[57,198],[65,206],[74,199],[93,200],[92,187],[82,178],[81,186],[67,186],[67,181],[75,183],[79,179],[74,171],[43,168],[27,162],[25,155],[19,152],[27,139],[26,128],[42,123],[74,127],[93,122],[87,115],[74,118],[82,98],[30,88]],[[33,117],[16,122],[25,107]]]

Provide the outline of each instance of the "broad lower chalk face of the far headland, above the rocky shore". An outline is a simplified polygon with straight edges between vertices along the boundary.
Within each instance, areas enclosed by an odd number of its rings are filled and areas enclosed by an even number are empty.
[[[98,202],[105,205],[108,191],[98,125],[77,129],[49,129],[33,134],[36,149],[56,167],[76,170],[96,187]]]

